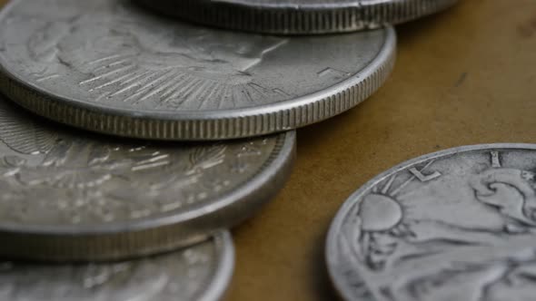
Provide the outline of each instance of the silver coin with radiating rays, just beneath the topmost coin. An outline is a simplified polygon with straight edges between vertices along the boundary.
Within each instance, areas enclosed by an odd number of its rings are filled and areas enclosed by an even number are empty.
[[[0,89],[92,131],[214,140],[349,110],[392,69],[392,28],[323,37],[230,33],[127,0],[14,0],[0,15]]]

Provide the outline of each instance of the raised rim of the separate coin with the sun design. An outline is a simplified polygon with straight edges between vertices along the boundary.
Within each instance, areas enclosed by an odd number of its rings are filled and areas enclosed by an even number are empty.
[[[422,163],[424,161],[438,159],[442,157],[457,155],[463,152],[470,152],[475,150],[536,150],[536,144],[531,143],[489,143],[489,144],[474,144],[474,145],[465,145],[461,147],[455,147],[447,150],[440,150],[424,154],[422,156],[413,158],[411,160],[403,161],[402,163],[395,165],[389,170],[385,170],[377,176],[373,177],[372,180],[368,180],[363,184],[359,189],[354,191],[352,195],[344,201],[342,207],[337,211],[335,218],[330,225],[328,230],[327,238],[325,241],[324,251],[325,251],[325,262],[328,269],[328,274],[330,276],[331,282],[336,289],[339,296],[344,300],[354,300],[354,295],[352,294],[352,289],[348,286],[347,278],[340,277],[341,273],[337,271],[338,262],[337,257],[339,257],[340,248],[338,247],[339,237],[341,233],[341,228],[344,222],[344,219],[348,217],[348,213],[352,208],[359,203],[362,195],[371,189],[373,186],[382,182],[382,180],[387,179],[395,173],[398,173],[402,170],[407,170],[409,167],[415,164]]]

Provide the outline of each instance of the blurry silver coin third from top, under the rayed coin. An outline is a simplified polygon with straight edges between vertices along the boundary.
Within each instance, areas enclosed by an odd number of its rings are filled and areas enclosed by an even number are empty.
[[[102,260],[190,245],[250,217],[293,162],[293,132],[229,143],[105,140],[13,106],[0,101],[4,257]]]

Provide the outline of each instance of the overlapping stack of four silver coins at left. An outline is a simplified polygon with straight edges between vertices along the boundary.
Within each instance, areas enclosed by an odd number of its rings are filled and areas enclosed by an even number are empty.
[[[226,229],[283,187],[293,130],[381,87],[392,24],[454,3],[10,1],[0,296],[220,299]]]

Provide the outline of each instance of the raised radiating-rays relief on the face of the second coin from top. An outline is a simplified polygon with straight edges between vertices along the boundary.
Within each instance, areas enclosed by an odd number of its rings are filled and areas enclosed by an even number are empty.
[[[36,62],[55,62],[87,74],[79,86],[97,102],[151,109],[233,109],[259,99],[285,99],[250,73],[286,39],[204,30],[187,25],[136,24],[132,4],[116,1],[114,15],[95,12],[40,27],[27,48]],[[162,26],[158,26],[158,25]],[[54,70],[35,81],[55,79]]]

